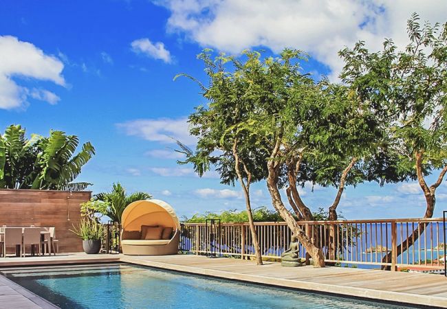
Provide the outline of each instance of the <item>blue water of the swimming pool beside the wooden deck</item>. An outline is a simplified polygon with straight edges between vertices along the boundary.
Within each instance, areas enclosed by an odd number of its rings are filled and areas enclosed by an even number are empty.
[[[399,308],[129,264],[15,268],[9,279],[61,308]]]

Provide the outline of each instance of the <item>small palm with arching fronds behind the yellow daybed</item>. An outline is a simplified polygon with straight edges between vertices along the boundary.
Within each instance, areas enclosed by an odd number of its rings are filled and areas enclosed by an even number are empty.
[[[121,222],[122,211],[135,201],[151,198],[151,194],[134,192],[126,194],[126,190],[120,183],[113,183],[111,192],[101,192],[94,196],[94,201],[102,201],[107,204],[105,215],[113,222]]]

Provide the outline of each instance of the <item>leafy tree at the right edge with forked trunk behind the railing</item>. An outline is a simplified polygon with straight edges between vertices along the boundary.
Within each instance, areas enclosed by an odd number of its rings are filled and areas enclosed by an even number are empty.
[[[391,39],[380,52],[369,52],[364,42],[342,50],[341,78],[359,100],[393,119],[388,152],[397,157],[401,176],[417,179],[426,201],[424,218],[431,218],[437,187],[447,172],[447,23],[421,27],[414,13],[407,25],[410,43],[402,51]],[[435,172],[436,181],[428,185],[426,176]],[[397,254],[412,246],[425,228],[419,225],[397,247]],[[391,255],[386,255],[383,262],[390,261]]]

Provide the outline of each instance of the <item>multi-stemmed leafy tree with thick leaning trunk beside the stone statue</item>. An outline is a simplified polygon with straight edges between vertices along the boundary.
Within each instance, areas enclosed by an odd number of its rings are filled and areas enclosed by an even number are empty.
[[[299,62],[307,56],[284,49],[279,58],[265,58],[246,52],[247,60],[232,60],[235,76],[248,87],[243,98],[250,104],[248,117],[238,125],[250,137],[246,147],[264,158],[266,182],[272,204],[312,256],[315,266],[324,266],[323,250],[318,239],[309,238],[282,201],[280,190],[286,189],[296,217],[313,220],[298,185],[307,181],[337,187],[338,193],[329,207],[329,220],[336,220],[336,207],[345,185],[363,181],[389,181],[393,170],[378,159],[386,148],[384,128],[388,119],[368,102],[357,100],[349,88],[323,79],[316,82],[303,73]],[[307,232],[307,236],[306,236]],[[318,237],[318,232],[313,233]]]

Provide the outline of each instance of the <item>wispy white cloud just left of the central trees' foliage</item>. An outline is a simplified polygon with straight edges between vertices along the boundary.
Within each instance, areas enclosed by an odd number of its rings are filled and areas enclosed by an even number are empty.
[[[173,144],[178,139],[184,144],[195,144],[195,137],[189,135],[188,119],[185,118],[160,118],[137,119],[117,124],[124,129],[127,135],[141,137],[147,141],[158,141],[165,144]]]

